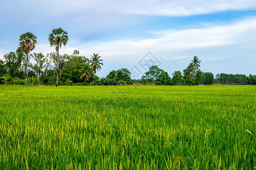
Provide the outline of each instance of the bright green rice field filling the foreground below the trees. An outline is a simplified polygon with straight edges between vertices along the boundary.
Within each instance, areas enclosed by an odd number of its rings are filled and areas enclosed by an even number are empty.
[[[0,168],[254,169],[255,101],[255,86],[0,86]]]

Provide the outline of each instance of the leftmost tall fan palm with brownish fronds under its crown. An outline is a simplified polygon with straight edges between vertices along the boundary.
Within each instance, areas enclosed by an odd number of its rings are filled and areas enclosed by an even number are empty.
[[[30,53],[30,51],[35,49],[36,36],[34,34],[32,34],[31,32],[26,32],[26,33],[23,33],[19,37],[19,41],[20,41],[19,42],[20,48],[27,55],[27,81],[26,81],[26,85],[27,85],[27,82],[28,82],[28,53]]]

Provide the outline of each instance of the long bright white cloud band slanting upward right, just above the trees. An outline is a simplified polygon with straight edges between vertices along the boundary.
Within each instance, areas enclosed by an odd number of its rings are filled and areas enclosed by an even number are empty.
[[[250,48],[255,47],[248,43],[256,39],[254,30],[256,19],[250,18],[240,20],[229,25],[212,25],[210,27],[184,30],[163,30],[152,32],[155,38],[143,40],[118,40],[112,42],[101,42],[93,46],[80,45],[81,53],[102,53],[108,58],[119,58],[129,56],[136,58],[148,51],[159,55],[175,53],[190,53],[190,50],[218,49],[223,46],[229,48]],[[237,47],[236,47],[237,46]],[[70,48],[75,49],[75,48]],[[232,49],[226,49],[226,51]],[[166,57],[170,58],[170,57]]]

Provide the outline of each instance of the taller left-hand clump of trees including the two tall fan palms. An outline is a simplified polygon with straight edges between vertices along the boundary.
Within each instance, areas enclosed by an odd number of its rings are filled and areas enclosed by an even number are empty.
[[[84,82],[94,85],[99,78],[96,71],[101,70],[102,59],[98,54],[93,54],[90,59],[79,56],[75,50],[73,55],[59,54],[61,46],[67,45],[68,33],[62,28],[52,29],[48,37],[49,44],[55,46],[56,52],[44,56],[42,53],[30,52],[35,49],[36,36],[31,32],[20,35],[19,48],[16,52],[10,52],[0,60],[0,84],[47,84],[55,86],[71,85],[73,82]],[[30,62],[33,58],[34,65]],[[26,74],[25,74],[26,72]],[[61,77],[59,78],[59,75]],[[26,79],[25,79],[26,76]],[[92,80],[90,77],[92,76]]]

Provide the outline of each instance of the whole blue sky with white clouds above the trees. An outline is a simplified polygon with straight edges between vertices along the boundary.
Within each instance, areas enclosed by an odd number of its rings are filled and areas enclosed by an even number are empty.
[[[61,27],[69,41],[60,54],[98,53],[100,77],[122,68],[139,77],[150,65],[171,75],[193,56],[214,75],[256,74],[255,0],[1,0],[0,16],[0,59],[25,32],[37,37],[31,53],[55,52],[48,36]]]

